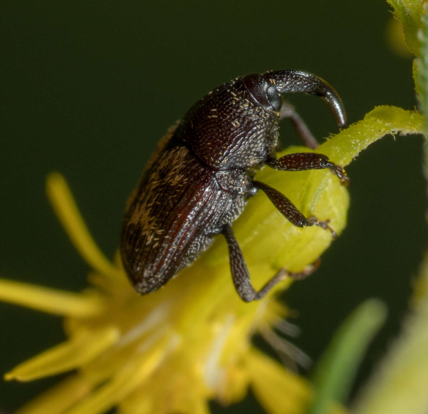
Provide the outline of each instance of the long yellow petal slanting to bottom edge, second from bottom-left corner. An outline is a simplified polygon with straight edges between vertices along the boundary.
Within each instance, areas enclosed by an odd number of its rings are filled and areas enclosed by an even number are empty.
[[[109,410],[143,384],[176,345],[176,338],[164,337],[140,358],[131,358],[115,377],[77,403],[67,414],[101,414]]]

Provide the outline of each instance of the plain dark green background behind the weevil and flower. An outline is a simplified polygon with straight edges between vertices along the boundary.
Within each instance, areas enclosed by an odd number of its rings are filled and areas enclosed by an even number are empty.
[[[196,100],[235,76],[308,70],[334,85],[350,123],[376,105],[416,105],[411,59],[385,42],[391,13],[384,1],[150,3],[2,2],[2,276],[85,287],[88,266],[53,216],[46,175],[65,175],[111,256],[125,200],[158,139]],[[290,100],[317,137],[337,132],[321,100]],[[281,135],[285,144],[298,142],[286,125]],[[421,148],[420,137],[386,137],[348,167],[348,227],[321,269],[284,295],[300,311],[303,334],[295,342],[315,360],[358,303],[387,302],[389,320],[360,379],[400,326],[426,246]],[[13,305],[0,304],[0,326],[1,373],[63,339],[60,318]],[[56,380],[0,382],[0,407],[15,409]],[[238,411],[254,402],[243,404]]]

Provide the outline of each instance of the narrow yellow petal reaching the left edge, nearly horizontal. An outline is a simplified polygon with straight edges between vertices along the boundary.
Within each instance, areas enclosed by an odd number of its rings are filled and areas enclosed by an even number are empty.
[[[72,293],[6,279],[0,279],[0,300],[61,316],[89,317],[104,310],[95,291]]]

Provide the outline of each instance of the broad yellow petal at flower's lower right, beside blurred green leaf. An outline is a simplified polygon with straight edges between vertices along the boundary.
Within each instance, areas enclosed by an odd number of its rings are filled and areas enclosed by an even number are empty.
[[[254,348],[249,352],[247,365],[253,392],[268,413],[305,412],[312,400],[306,380]]]

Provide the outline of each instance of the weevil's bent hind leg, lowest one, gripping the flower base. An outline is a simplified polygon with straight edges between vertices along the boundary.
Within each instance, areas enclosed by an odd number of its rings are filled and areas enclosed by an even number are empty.
[[[222,233],[226,238],[227,245],[229,247],[229,261],[230,270],[232,273],[233,284],[239,295],[244,302],[251,302],[256,299],[262,299],[278,282],[285,280],[287,277],[293,279],[304,279],[314,272],[319,266],[319,259],[314,264],[306,266],[301,272],[287,272],[285,268],[279,270],[272,279],[263,286],[262,289],[256,291],[253,288],[250,280],[250,272],[248,271],[247,263],[245,263],[244,255],[242,254],[241,247],[239,247],[238,241],[235,238],[232,227],[226,224],[223,227]]]

